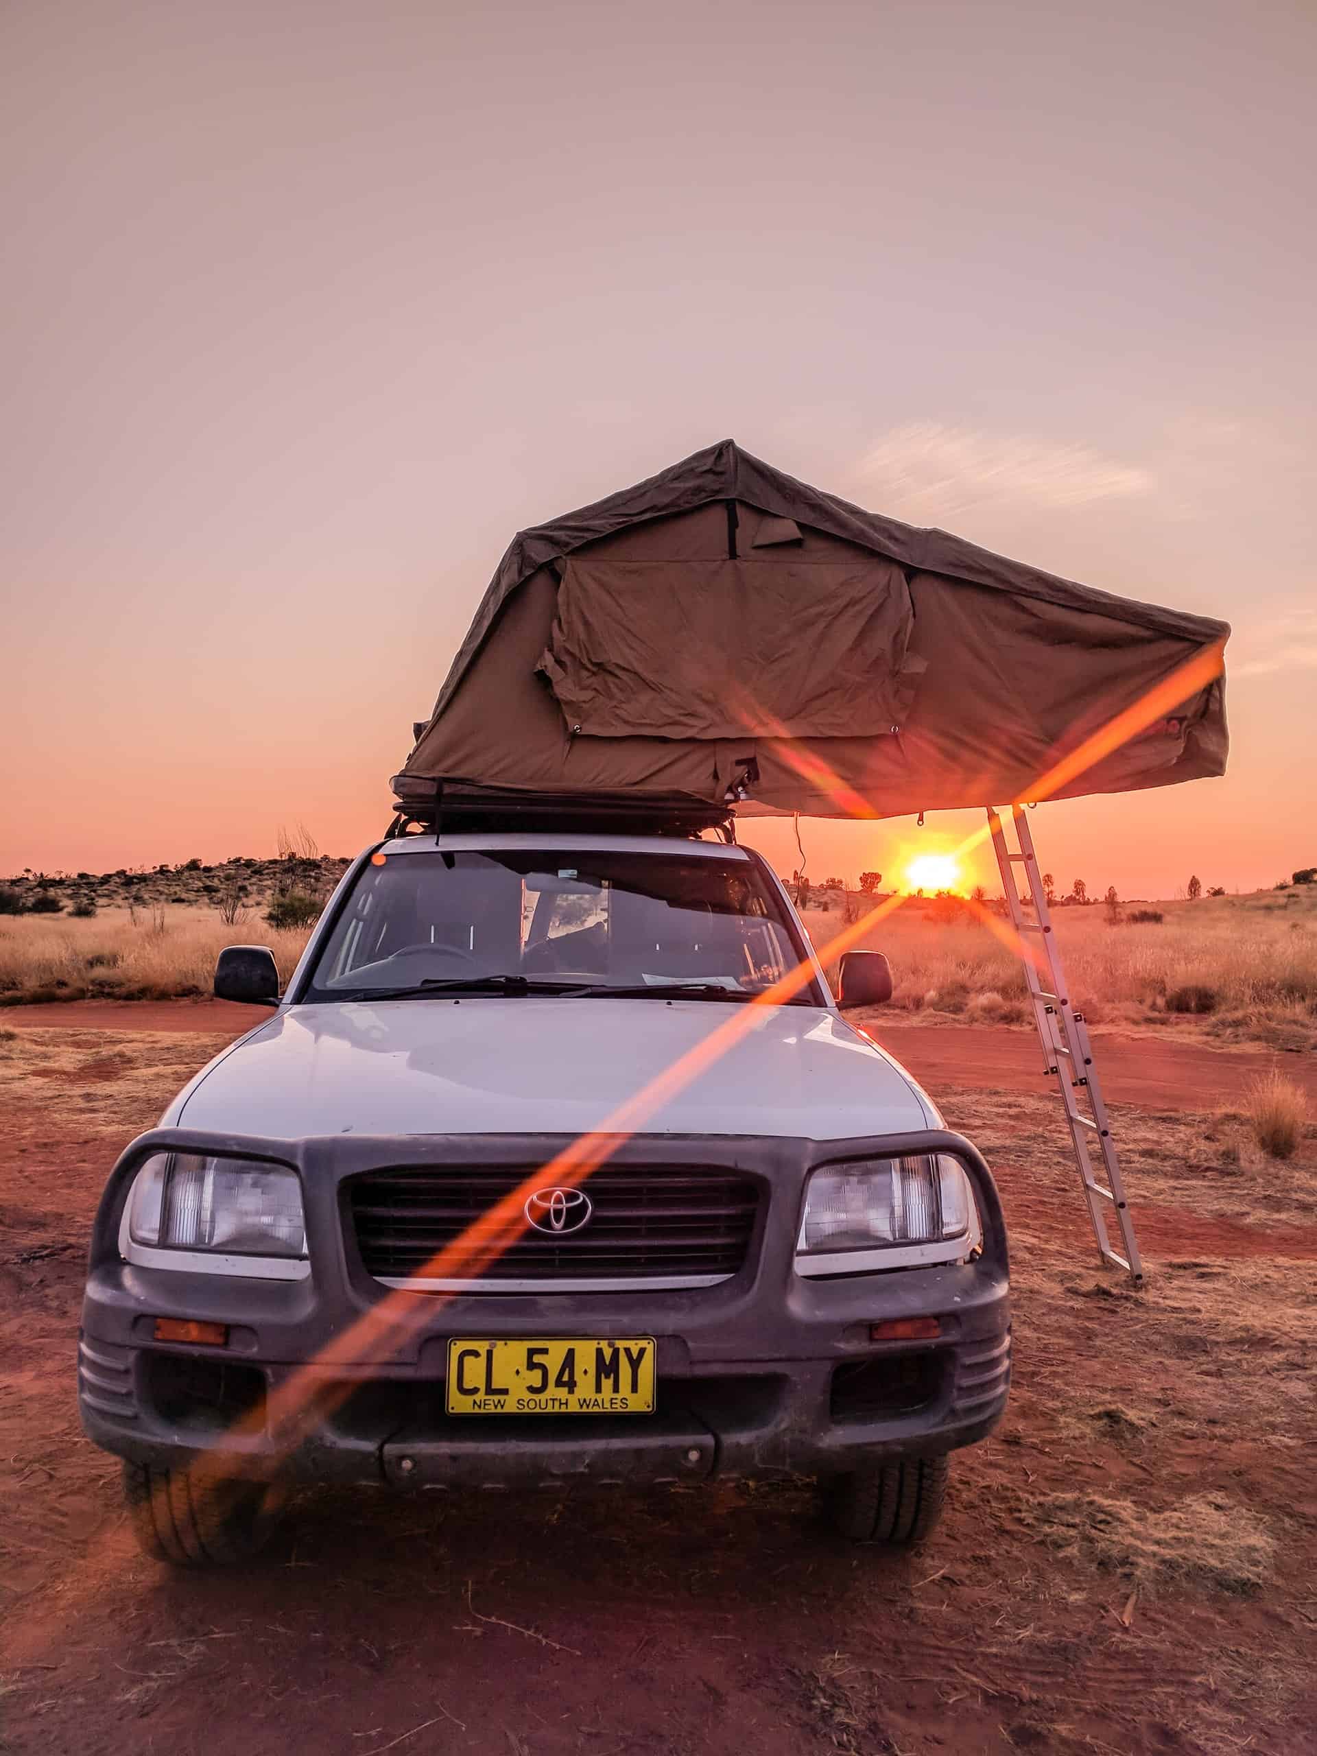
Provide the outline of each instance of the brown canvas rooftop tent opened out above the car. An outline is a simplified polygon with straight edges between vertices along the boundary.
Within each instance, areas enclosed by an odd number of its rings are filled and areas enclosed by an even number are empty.
[[[709,446],[523,530],[393,790],[894,817],[1017,799],[1229,629]],[[1224,681],[1054,788],[1226,769]],[[725,810],[725,806],[723,806]]]

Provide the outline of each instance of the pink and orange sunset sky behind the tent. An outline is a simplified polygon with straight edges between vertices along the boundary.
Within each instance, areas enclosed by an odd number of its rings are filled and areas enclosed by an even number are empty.
[[[5,7],[0,871],[353,852],[511,534],[725,435],[1234,623],[1229,776],[1040,808],[1064,887],[1312,864],[1315,63],[1212,0]]]

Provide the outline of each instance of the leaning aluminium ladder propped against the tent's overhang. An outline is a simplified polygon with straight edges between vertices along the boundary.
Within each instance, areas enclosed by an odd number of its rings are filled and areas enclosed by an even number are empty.
[[[1092,1064],[1089,1027],[1083,1022],[1083,1013],[1076,1011],[1069,1003],[1066,973],[1061,968],[1061,952],[1057,950],[1055,932],[1052,931],[1052,913],[1047,906],[1043,880],[1038,871],[1038,855],[1034,853],[1034,841],[1029,834],[1024,806],[1011,806],[1018,852],[1011,852],[996,806],[987,808],[987,817],[989,829],[992,831],[992,848],[997,855],[1001,887],[1006,892],[1006,911],[1010,913],[1011,925],[1020,936],[1024,975],[1029,983],[1029,999],[1034,1008],[1038,1040],[1043,1045],[1043,1071],[1055,1076],[1061,1090],[1061,1105],[1066,1112],[1066,1122],[1069,1124],[1069,1138],[1075,1145],[1075,1162],[1080,1168],[1080,1180],[1083,1182],[1083,1196],[1089,1203],[1089,1217],[1092,1219],[1092,1229],[1098,1238],[1098,1250],[1101,1252],[1105,1263],[1127,1270],[1138,1284],[1143,1280],[1143,1263],[1140,1261],[1134,1222],[1129,1217],[1129,1203],[1126,1201],[1126,1191],[1120,1180],[1120,1161],[1117,1159],[1115,1141],[1112,1140],[1112,1124],[1106,1115],[1106,1105],[1103,1103],[1098,1069]],[[1031,920],[1026,915],[1024,901],[1020,899],[1020,887],[1015,882],[1017,866],[1024,867],[1024,874],[1029,880],[1027,894],[1033,899],[1034,915],[1038,917],[1036,920]],[[1041,959],[1033,955],[1033,946],[1029,943],[1031,936],[1038,938]],[[1047,975],[1043,975],[1043,971]],[[1080,1108],[1080,1094],[1087,1096],[1089,1110],[1092,1112],[1090,1115],[1085,1115]],[[1092,1150],[1094,1147],[1098,1148],[1096,1154]],[[1099,1166],[1106,1175],[1105,1184],[1098,1178]],[[1124,1256],[1112,1249],[1112,1240],[1106,1229],[1106,1206],[1110,1206],[1115,1213],[1115,1222],[1120,1229],[1120,1240],[1126,1250]]]

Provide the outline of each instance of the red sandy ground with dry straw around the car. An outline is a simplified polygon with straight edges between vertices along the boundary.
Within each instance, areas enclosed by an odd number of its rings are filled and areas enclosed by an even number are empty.
[[[74,1342],[105,1169],[225,1038],[28,1020],[0,1038],[0,1749],[1317,1751],[1312,1133],[1271,1168],[1168,1090],[1119,1105],[1136,1294],[1092,1264],[1047,1099],[920,1068],[999,1175],[1017,1380],[911,1558],[836,1545],[804,1484],[309,1491],[262,1565],[191,1577],[133,1551]]]

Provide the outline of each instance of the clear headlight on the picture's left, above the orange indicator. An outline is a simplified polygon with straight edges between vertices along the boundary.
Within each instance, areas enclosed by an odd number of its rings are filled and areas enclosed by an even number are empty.
[[[153,1254],[198,1250],[304,1261],[302,1185],[284,1164],[162,1152],[137,1173],[126,1238]],[[126,1254],[144,1261],[140,1250]]]

